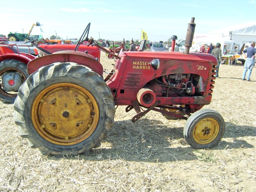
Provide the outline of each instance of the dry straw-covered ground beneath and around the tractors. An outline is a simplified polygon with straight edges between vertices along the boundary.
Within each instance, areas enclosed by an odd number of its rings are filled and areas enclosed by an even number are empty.
[[[113,60],[101,54],[104,68]],[[116,109],[115,125],[88,156],[42,156],[29,148],[13,121],[13,105],[0,102],[0,191],[256,191],[256,68],[221,65],[212,102],[226,122],[218,146],[196,150],[183,138],[185,120]]]

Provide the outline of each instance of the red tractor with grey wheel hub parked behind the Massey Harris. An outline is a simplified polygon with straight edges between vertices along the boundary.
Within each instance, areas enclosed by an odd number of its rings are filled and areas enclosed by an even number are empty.
[[[26,43],[34,42],[38,39],[32,39]],[[0,100],[3,103],[14,103],[15,98],[17,97],[18,90],[20,85],[28,78],[28,62],[37,58],[33,55],[34,50],[41,56],[45,54],[52,54],[53,52],[60,50],[74,50],[76,45],[72,44],[56,44],[56,45],[40,45],[46,46],[47,50],[35,46],[29,47],[26,45],[1,45],[0,46]],[[68,46],[68,47],[67,47]],[[16,48],[16,49],[14,49]],[[27,48],[29,53],[23,53],[19,50]],[[41,51],[41,52],[40,52]],[[83,53],[88,53],[88,55],[93,56],[94,59],[100,59],[100,50],[97,47],[92,46],[80,46],[78,51]],[[78,59],[79,57],[77,57]],[[79,62],[78,62],[79,63]]]

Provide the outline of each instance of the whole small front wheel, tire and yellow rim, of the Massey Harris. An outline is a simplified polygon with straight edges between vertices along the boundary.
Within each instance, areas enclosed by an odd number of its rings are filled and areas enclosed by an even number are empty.
[[[192,148],[204,149],[217,145],[225,132],[222,116],[211,109],[193,113],[187,120],[183,133]]]

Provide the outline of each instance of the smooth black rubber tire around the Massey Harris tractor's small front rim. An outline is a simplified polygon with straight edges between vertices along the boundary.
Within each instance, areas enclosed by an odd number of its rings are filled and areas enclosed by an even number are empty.
[[[216,133],[216,138],[212,140],[211,142],[208,142],[206,144],[200,144],[196,141],[196,139],[193,136],[193,132],[196,128],[196,125],[203,119],[212,118],[216,121],[216,123],[219,126],[219,132]],[[221,138],[223,137],[225,132],[225,121],[222,118],[222,116],[212,109],[201,109],[199,111],[196,111],[191,116],[188,117],[188,120],[184,126],[183,134],[185,140],[188,142],[188,144],[195,149],[204,149],[204,148],[212,148],[215,145],[217,145]],[[213,139],[213,138],[212,138]],[[202,140],[204,141],[204,140]]]

